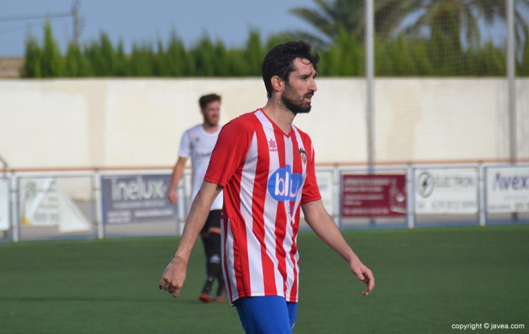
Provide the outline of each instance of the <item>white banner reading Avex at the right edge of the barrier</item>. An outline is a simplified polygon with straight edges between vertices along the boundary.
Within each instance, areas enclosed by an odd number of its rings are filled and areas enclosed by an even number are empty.
[[[529,212],[529,167],[487,169],[487,211]]]

